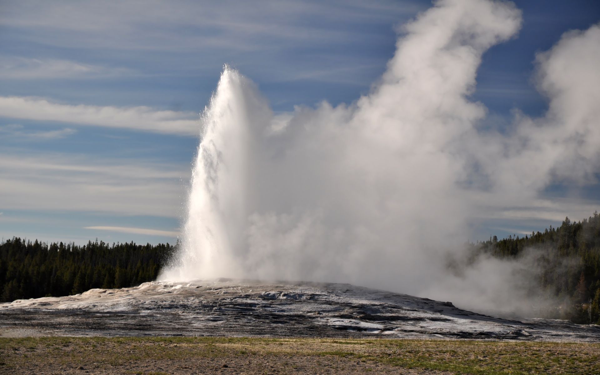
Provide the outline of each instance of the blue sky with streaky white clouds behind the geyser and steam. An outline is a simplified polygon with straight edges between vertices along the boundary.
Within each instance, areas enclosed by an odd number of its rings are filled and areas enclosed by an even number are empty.
[[[596,1],[515,1],[516,37],[482,57],[471,99],[507,131],[547,98],[536,55],[600,22]],[[430,1],[0,1],[0,236],[173,243],[185,219],[199,113],[223,64],[276,113],[354,103]],[[485,126],[486,124],[483,124]],[[581,220],[596,181],[506,205],[471,241]],[[551,202],[551,204],[548,204]]]

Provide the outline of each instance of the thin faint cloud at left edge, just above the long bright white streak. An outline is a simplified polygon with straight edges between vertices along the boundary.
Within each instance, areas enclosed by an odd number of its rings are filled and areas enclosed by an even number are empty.
[[[61,59],[0,56],[2,79],[107,78],[132,74],[133,71],[126,68],[106,68]]]

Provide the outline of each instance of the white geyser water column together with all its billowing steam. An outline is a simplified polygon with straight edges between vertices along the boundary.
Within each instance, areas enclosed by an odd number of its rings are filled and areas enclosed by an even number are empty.
[[[589,182],[600,164],[598,26],[537,56],[547,115],[481,127],[487,110],[469,98],[481,56],[520,24],[510,2],[437,1],[404,26],[370,94],[291,116],[226,68],[203,115],[181,257],[161,278],[340,281],[513,308],[511,263],[447,271],[469,224],[553,182]]]

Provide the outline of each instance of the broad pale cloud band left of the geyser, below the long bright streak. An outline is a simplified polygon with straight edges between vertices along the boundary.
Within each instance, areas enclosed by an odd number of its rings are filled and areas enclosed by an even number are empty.
[[[149,160],[0,153],[0,207],[177,218],[189,170]]]

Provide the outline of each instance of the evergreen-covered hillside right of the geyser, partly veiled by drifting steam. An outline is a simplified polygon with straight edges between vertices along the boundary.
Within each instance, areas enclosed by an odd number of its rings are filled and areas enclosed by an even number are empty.
[[[543,317],[600,324],[600,215],[562,224],[544,232],[470,244],[472,259],[491,256],[531,265],[531,295],[544,295],[556,306]],[[532,262],[533,260],[533,262]]]

